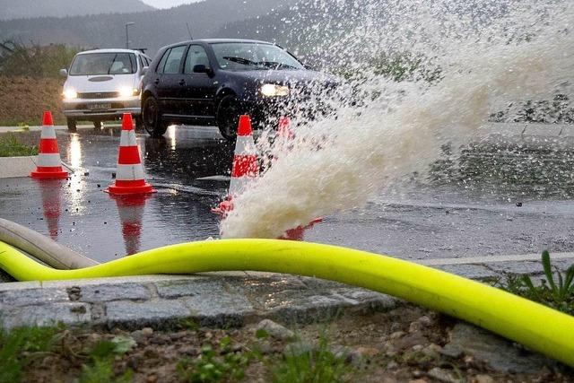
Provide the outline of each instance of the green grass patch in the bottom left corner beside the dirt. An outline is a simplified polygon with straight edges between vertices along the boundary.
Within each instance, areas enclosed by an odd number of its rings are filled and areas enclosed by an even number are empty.
[[[26,367],[37,355],[48,353],[57,343],[58,327],[0,328],[0,382],[23,381]]]

